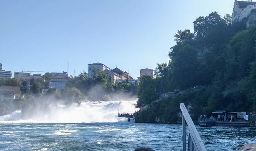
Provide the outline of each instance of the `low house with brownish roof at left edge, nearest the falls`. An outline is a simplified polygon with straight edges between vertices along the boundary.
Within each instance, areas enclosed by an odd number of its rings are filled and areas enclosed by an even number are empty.
[[[0,101],[12,102],[22,98],[23,94],[21,93],[19,86],[0,86]]]

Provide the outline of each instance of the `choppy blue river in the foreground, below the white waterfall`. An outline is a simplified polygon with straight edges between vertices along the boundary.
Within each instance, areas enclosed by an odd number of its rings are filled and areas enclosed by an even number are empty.
[[[232,151],[256,142],[250,127],[198,127],[206,149]],[[0,150],[156,151],[182,149],[181,126],[128,122],[83,124],[0,124]]]

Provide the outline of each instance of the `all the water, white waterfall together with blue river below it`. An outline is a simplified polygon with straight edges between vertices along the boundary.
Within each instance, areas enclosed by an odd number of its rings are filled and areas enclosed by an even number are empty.
[[[134,110],[133,101],[120,104],[121,112]],[[126,122],[116,117],[116,101],[84,102],[79,107],[57,105],[47,112],[39,111],[30,113],[33,116],[16,111],[0,117],[0,151],[132,151],[140,146],[156,151],[182,150],[181,125]],[[197,128],[210,151],[238,150],[256,142],[253,127]]]

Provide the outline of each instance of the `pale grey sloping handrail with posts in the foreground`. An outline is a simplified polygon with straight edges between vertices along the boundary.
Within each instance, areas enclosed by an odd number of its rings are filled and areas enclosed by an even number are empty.
[[[181,103],[180,110],[182,112],[182,147],[186,151],[186,124],[190,130],[188,135],[188,151],[206,151],[204,143],[186,109],[186,106]]]

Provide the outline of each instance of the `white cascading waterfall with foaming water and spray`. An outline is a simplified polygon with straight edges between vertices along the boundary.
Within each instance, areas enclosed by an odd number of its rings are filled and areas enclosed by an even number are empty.
[[[135,112],[136,100],[129,101],[84,101],[78,106],[71,104],[48,105],[50,108],[44,110],[35,107],[31,112],[22,115],[22,110],[11,114],[0,116],[0,122],[35,122],[35,123],[90,123],[90,122],[118,122],[127,121],[125,118],[118,118],[118,103],[120,102],[120,113]],[[26,118],[24,118],[26,117]]]

